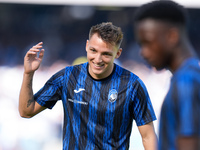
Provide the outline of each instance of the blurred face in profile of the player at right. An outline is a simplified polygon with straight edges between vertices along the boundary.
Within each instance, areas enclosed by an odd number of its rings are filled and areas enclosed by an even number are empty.
[[[168,28],[164,23],[146,19],[136,26],[136,37],[143,58],[157,70],[167,68],[171,58]]]

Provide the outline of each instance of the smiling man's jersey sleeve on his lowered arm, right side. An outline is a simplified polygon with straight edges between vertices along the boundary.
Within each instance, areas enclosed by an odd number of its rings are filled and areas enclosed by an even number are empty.
[[[146,86],[140,78],[137,79],[133,86],[132,101],[133,101],[133,118],[137,126],[145,125],[156,120],[156,115],[149,98]]]

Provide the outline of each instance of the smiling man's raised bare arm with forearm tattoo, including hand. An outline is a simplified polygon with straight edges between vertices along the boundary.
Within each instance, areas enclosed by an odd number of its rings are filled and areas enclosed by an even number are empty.
[[[34,72],[39,68],[44,55],[44,49],[41,49],[42,44],[40,42],[33,46],[24,57],[24,75],[19,95],[19,113],[21,117],[30,118],[45,109],[34,100],[32,90]],[[37,57],[38,52],[40,52],[39,57]]]

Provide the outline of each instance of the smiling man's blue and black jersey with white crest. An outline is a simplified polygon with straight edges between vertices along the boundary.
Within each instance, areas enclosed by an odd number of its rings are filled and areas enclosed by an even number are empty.
[[[133,119],[138,126],[156,119],[143,82],[118,65],[102,80],[89,75],[88,63],[66,67],[35,100],[47,108],[62,100],[64,150],[128,149]]]

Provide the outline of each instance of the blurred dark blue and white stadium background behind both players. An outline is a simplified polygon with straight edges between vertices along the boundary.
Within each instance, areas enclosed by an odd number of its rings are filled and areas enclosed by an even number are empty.
[[[135,9],[147,1],[0,0],[0,150],[62,149],[61,102],[32,119],[19,116],[24,55],[32,45],[44,42],[44,60],[33,83],[36,92],[55,72],[84,60],[90,27],[107,21],[124,32],[123,53],[116,63],[133,71],[146,84],[158,117],[155,121],[158,133],[160,106],[171,74],[166,70],[156,72],[145,64],[134,40],[132,17]],[[200,2],[178,2],[189,10],[189,35],[200,54]],[[132,149],[143,150],[135,124],[130,141]]]

